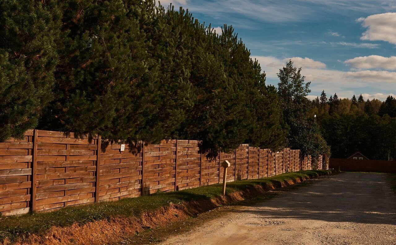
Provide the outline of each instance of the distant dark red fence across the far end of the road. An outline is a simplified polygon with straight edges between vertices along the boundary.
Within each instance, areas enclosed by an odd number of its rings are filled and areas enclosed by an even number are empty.
[[[396,161],[330,158],[329,168],[341,171],[396,173]]]

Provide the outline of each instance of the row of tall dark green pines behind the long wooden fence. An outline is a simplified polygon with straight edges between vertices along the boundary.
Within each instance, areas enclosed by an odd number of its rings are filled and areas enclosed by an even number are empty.
[[[38,128],[285,145],[276,89],[232,27],[147,0],[4,0],[0,13],[0,141]]]

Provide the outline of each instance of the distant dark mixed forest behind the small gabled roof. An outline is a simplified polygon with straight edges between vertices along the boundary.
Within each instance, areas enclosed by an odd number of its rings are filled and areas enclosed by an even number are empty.
[[[322,91],[312,101],[309,116],[317,115],[331,157],[346,158],[360,151],[372,160],[396,160],[396,99],[364,100],[362,95],[339,99]]]

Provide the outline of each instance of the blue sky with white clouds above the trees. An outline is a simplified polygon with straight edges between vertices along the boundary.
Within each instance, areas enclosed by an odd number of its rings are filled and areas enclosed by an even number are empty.
[[[384,100],[396,89],[396,0],[163,0],[189,9],[217,32],[232,25],[251,57],[278,83],[290,58],[312,82],[339,97]]]

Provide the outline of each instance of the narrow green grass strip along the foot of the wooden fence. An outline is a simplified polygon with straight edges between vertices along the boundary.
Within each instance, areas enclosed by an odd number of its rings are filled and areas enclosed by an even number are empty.
[[[253,188],[255,185],[272,184],[280,187],[281,182],[296,178],[313,178],[331,173],[331,170],[309,170],[284,173],[269,178],[240,180],[227,183],[227,194]],[[334,171],[333,171],[334,172]],[[85,224],[95,220],[111,217],[130,217],[152,211],[170,203],[180,204],[188,201],[199,201],[221,196],[222,185],[214,184],[177,192],[160,192],[150,196],[125,198],[120,201],[92,203],[88,205],[65,207],[53,212],[30,213],[14,217],[0,218],[0,239],[15,241],[18,237],[45,232],[52,226],[70,226]]]

